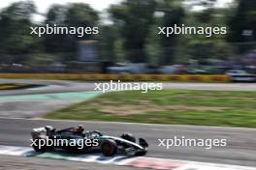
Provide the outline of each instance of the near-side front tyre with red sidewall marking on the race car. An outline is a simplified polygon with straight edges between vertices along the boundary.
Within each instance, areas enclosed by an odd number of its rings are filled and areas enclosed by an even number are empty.
[[[117,144],[114,140],[104,140],[101,144],[101,152],[104,156],[113,156],[116,154]]]

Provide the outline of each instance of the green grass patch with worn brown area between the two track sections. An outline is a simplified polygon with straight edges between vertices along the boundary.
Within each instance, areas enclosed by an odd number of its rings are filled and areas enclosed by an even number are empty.
[[[256,93],[192,90],[109,93],[48,113],[45,118],[256,128]]]

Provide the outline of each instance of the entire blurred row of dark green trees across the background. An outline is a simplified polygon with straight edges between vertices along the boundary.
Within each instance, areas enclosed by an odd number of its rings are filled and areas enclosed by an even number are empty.
[[[249,44],[256,38],[256,2],[237,0],[229,9],[215,8],[215,4],[216,0],[124,0],[108,10],[111,24],[101,22],[99,12],[83,3],[52,5],[44,24],[99,26],[100,35],[82,38],[45,35],[38,38],[29,34],[29,27],[41,25],[32,22],[33,14],[37,14],[33,2],[15,2],[0,12],[1,63],[41,62],[36,56],[38,53],[67,54],[53,58],[68,63],[77,60],[78,42],[91,39],[98,40],[101,61],[151,65],[187,63],[189,59],[202,62],[226,60],[237,51],[244,53],[252,49],[255,45]],[[201,10],[192,10],[199,7]],[[172,35],[165,38],[157,35],[158,26],[180,26],[181,23],[195,27],[227,26],[228,36]],[[244,31],[251,34],[244,34]],[[235,51],[230,42],[244,45],[237,45]],[[34,54],[35,59],[25,57]]]

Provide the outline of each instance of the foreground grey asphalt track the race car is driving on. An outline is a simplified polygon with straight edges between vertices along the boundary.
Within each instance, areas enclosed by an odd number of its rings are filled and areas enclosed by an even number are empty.
[[[29,146],[32,128],[46,125],[55,128],[76,127],[82,124],[86,130],[107,132],[120,135],[129,131],[136,136],[144,137],[149,143],[146,156],[173,158],[224,164],[256,166],[256,129],[253,128],[209,128],[193,126],[140,125],[102,122],[48,121],[0,119],[0,145]],[[158,139],[169,139],[174,136],[185,136],[189,139],[227,139],[227,147],[213,147],[208,150],[201,147],[171,147],[167,150],[159,147]]]

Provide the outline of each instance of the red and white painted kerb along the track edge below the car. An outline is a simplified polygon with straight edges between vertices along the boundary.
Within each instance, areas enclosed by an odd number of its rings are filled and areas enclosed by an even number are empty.
[[[121,166],[131,166],[135,168],[147,168],[155,170],[256,170],[254,167],[245,167],[237,165],[225,165],[215,163],[205,163],[196,161],[184,161],[167,158],[154,157],[126,157],[113,156],[106,157],[100,154],[80,155],[80,156],[63,156],[61,153],[46,153],[38,155],[29,147],[14,147],[0,145],[0,155],[5,156],[37,156],[52,159],[65,159],[70,161],[95,162],[103,164],[115,164]]]

